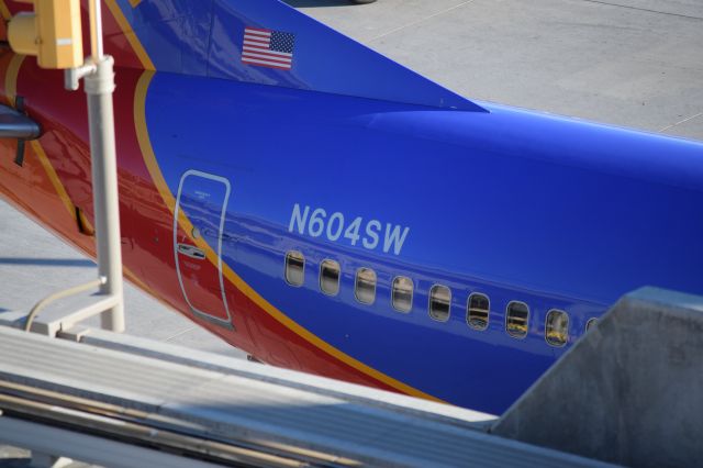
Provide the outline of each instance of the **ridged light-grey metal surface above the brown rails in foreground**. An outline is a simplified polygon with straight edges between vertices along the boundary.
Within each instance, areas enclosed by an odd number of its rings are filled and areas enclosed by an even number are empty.
[[[453,421],[393,394],[375,404],[379,390],[252,363],[209,370],[4,326],[0,355],[0,381],[137,410],[152,415],[144,421],[168,419],[221,443],[265,441],[373,466],[598,465],[488,435],[471,427],[486,421],[479,413],[456,410]]]

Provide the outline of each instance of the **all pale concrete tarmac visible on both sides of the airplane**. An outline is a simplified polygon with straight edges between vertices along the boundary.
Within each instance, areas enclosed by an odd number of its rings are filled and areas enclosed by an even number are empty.
[[[703,140],[699,0],[288,3],[470,99]],[[94,278],[2,201],[0,220],[0,312]],[[129,333],[244,356],[136,288],[125,296]]]

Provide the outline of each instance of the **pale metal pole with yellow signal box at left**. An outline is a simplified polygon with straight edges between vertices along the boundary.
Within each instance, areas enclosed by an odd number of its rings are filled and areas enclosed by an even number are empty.
[[[89,18],[91,55],[81,66],[66,69],[65,87],[68,90],[77,90],[80,79],[83,79],[88,97],[98,279],[42,299],[26,319],[26,331],[32,328],[35,315],[53,301],[94,287],[99,288],[99,300],[72,312],[69,317],[66,317],[68,321],[66,323],[72,324],[88,316],[101,314],[103,328],[114,332],[124,331],[120,209],[112,105],[114,60],[103,53],[100,0],[89,1]],[[78,54],[82,54],[80,5],[76,0],[66,0],[60,4],[37,1],[35,13],[20,13],[10,24],[10,45],[16,52],[37,55],[40,66],[48,68],[72,66],[80,56]],[[15,103],[18,110],[7,107],[0,109],[0,137],[18,138],[15,161],[19,165],[22,165],[23,160],[24,141],[40,136],[38,125],[21,112],[21,104],[22,102]],[[46,332],[49,332],[49,328]]]

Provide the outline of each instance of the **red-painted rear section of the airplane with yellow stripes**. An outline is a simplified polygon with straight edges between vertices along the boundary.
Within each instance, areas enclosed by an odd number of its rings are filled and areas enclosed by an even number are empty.
[[[138,135],[137,122],[144,118],[144,93],[154,73],[153,65],[138,41],[124,34],[126,22],[120,18],[122,13],[114,1],[104,3],[105,52],[115,59],[114,116],[125,277],[164,304],[265,363],[437,400],[326,344],[267,307],[244,283],[225,281],[234,330],[216,326],[190,312],[176,275],[172,207],[164,200],[158,181],[149,171],[144,142],[141,144]],[[5,21],[26,9],[26,4],[0,0]],[[86,5],[82,21],[87,24]],[[83,44],[87,48],[87,37]],[[0,141],[0,194],[94,258],[91,227],[83,226],[81,233],[77,219],[78,210],[88,222],[93,219],[86,96],[82,91],[66,91],[63,73],[38,68],[34,57],[18,56],[9,48],[0,54],[0,99],[14,107],[15,98],[23,97],[27,114],[42,127],[41,137],[27,142],[21,167],[14,164],[16,142]],[[188,234],[179,227],[178,236]],[[208,288],[208,285],[188,287]],[[211,287],[219,289],[217,285]]]

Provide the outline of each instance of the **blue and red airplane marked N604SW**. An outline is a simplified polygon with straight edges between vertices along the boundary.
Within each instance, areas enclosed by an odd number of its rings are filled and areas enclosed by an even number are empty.
[[[703,293],[700,142],[469,100],[277,0],[103,22],[125,277],[264,363],[499,414],[622,294]],[[41,126],[0,193],[94,256],[82,94],[0,76]]]

